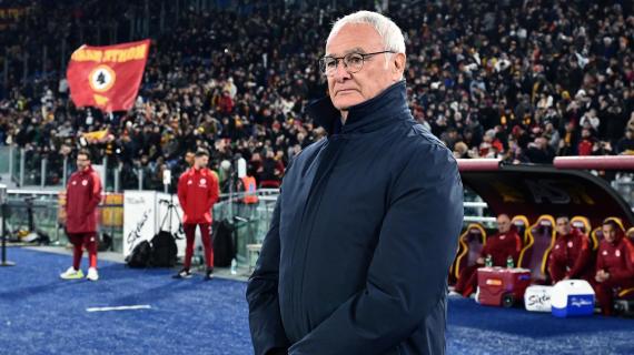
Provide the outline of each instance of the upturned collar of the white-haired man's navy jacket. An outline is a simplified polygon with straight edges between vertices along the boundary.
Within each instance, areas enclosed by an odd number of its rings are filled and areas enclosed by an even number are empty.
[[[351,106],[344,125],[340,123],[341,113],[333,105],[329,97],[311,103],[306,112],[328,134],[372,132],[406,116],[403,113],[409,113],[405,80],[394,83],[377,97]]]

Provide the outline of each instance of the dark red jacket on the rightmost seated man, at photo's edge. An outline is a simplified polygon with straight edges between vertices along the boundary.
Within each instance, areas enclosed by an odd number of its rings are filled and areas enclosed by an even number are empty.
[[[617,232],[614,244],[606,240],[598,244],[596,271],[606,271],[616,284],[634,283],[634,244]]]

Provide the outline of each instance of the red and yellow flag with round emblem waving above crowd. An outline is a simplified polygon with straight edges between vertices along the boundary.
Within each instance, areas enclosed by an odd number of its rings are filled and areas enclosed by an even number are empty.
[[[66,77],[72,102],[101,111],[127,111],[137,99],[150,40],[107,47],[81,45],[70,57]]]

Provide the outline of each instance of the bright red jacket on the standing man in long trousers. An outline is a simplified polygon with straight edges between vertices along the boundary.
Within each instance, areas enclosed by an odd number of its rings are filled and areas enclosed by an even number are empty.
[[[218,176],[207,168],[190,168],[178,180],[178,201],[184,224],[211,223],[211,206],[218,201]]]

